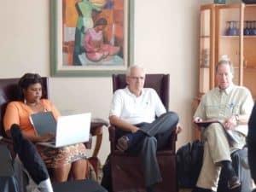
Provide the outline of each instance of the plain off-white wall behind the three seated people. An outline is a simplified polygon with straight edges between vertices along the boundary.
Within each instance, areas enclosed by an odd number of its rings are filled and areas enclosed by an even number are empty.
[[[170,108],[191,139],[192,100],[197,94],[200,0],[135,0],[135,63],[148,73],[170,73]],[[26,72],[49,76],[49,0],[3,1],[0,7],[0,77]],[[112,83],[107,78],[50,78],[50,99],[64,113],[90,111],[108,119]],[[109,153],[108,130],[100,151]]]

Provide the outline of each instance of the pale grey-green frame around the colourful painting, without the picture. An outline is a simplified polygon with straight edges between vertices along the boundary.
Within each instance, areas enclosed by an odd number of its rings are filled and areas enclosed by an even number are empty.
[[[108,77],[125,73],[133,64],[134,52],[134,0],[124,1],[123,63],[116,66],[68,66],[63,63],[62,0],[50,1],[50,74],[53,77]]]

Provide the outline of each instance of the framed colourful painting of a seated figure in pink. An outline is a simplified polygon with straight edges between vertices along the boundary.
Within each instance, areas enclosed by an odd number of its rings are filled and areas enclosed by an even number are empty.
[[[134,0],[50,3],[52,76],[110,76],[133,63]]]

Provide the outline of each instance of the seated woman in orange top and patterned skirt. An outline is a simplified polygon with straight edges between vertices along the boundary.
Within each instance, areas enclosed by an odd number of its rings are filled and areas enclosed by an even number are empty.
[[[20,101],[9,102],[3,118],[4,129],[10,137],[10,127],[20,125],[20,129],[32,143],[47,142],[55,137],[53,134],[38,136],[29,119],[33,113],[50,111],[55,119],[60,116],[54,104],[42,99],[42,79],[37,73],[24,74],[18,84]],[[70,127],[72,130],[72,127]],[[69,172],[74,179],[84,179],[87,172],[86,148],[83,143],[73,144],[61,148],[49,148],[36,145],[38,152],[48,168],[54,170],[55,182],[67,181]]]

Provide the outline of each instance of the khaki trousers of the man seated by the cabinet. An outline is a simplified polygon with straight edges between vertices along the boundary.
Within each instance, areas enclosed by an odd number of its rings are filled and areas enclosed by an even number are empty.
[[[218,162],[222,160],[231,161],[230,151],[233,151],[234,148],[241,148],[245,144],[245,137],[241,139],[242,142],[239,146],[231,145],[223,127],[214,123],[203,130],[202,138],[204,141],[203,165],[196,186],[217,191],[218,177],[221,171],[221,164]]]

